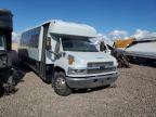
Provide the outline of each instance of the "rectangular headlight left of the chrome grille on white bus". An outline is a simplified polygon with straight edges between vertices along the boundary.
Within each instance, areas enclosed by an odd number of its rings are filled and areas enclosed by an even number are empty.
[[[84,75],[87,74],[87,69],[76,69],[76,68],[68,68],[69,75]]]

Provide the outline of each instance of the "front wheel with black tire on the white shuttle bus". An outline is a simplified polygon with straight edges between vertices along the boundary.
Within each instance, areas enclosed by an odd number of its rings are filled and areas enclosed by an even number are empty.
[[[67,96],[72,93],[72,89],[66,84],[65,74],[63,72],[54,74],[53,88],[55,93],[62,96]]]

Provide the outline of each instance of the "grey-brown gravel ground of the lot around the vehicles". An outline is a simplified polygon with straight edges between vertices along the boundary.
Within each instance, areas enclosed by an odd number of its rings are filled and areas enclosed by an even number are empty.
[[[115,88],[63,98],[23,66],[15,94],[0,98],[0,117],[156,117],[156,67],[119,69]]]

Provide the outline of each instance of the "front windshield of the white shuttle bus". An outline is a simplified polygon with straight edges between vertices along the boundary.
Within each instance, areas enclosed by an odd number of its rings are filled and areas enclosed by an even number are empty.
[[[98,52],[98,49],[91,43],[89,38],[62,38],[64,51],[77,52]]]

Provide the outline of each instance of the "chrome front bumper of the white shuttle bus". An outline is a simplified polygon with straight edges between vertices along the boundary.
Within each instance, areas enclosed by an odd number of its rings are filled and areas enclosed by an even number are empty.
[[[103,76],[74,78],[66,77],[66,82],[69,88],[86,89],[86,88],[98,88],[102,86],[107,86],[115,82],[118,78],[118,74],[109,74]]]

